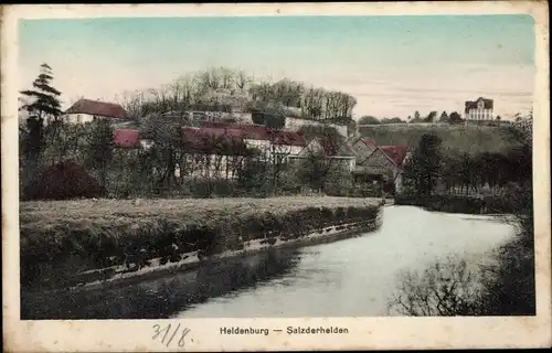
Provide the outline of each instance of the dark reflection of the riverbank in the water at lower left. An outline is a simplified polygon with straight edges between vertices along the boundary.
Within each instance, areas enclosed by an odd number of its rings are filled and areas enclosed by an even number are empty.
[[[123,288],[56,297],[22,293],[22,319],[162,319],[191,306],[285,276],[296,249],[234,258]]]

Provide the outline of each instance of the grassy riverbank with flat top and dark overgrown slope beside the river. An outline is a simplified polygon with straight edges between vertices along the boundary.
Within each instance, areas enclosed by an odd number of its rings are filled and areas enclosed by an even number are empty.
[[[275,197],[21,203],[21,285],[68,286],[73,275],[128,271],[275,244],[373,221],[379,199]]]

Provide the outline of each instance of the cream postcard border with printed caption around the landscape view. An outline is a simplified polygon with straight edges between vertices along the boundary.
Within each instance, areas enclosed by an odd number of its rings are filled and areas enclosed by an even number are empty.
[[[19,320],[19,182],[17,143],[17,21],[39,18],[137,15],[299,15],[299,14],[503,14],[535,20],[533,180],[535,210],[537,315],[508,318],[295,318],[193,320]],[[537,1],[10,6],[2,8],[2,255],[3,334],[9,352],[42,351],[266,351],[466,349],[550,346],[550,110],[548,6]],[[331,303],[328,303],[331,306]],[[155,324],[188,328],[184,346],[152,340]],[[287,334],[287,327],[338,327],[347,334]],[[221,334],[221,328],[267,328],[268,335]],[[178,338],[177,332],[177,338]]]

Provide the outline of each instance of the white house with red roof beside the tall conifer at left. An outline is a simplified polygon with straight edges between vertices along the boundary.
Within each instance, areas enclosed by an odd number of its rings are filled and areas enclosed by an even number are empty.
[[[84,124],[96,119],[125,121],[128,116],[120,104],[82,98],[64,111],[63,119],[71,124]]]

